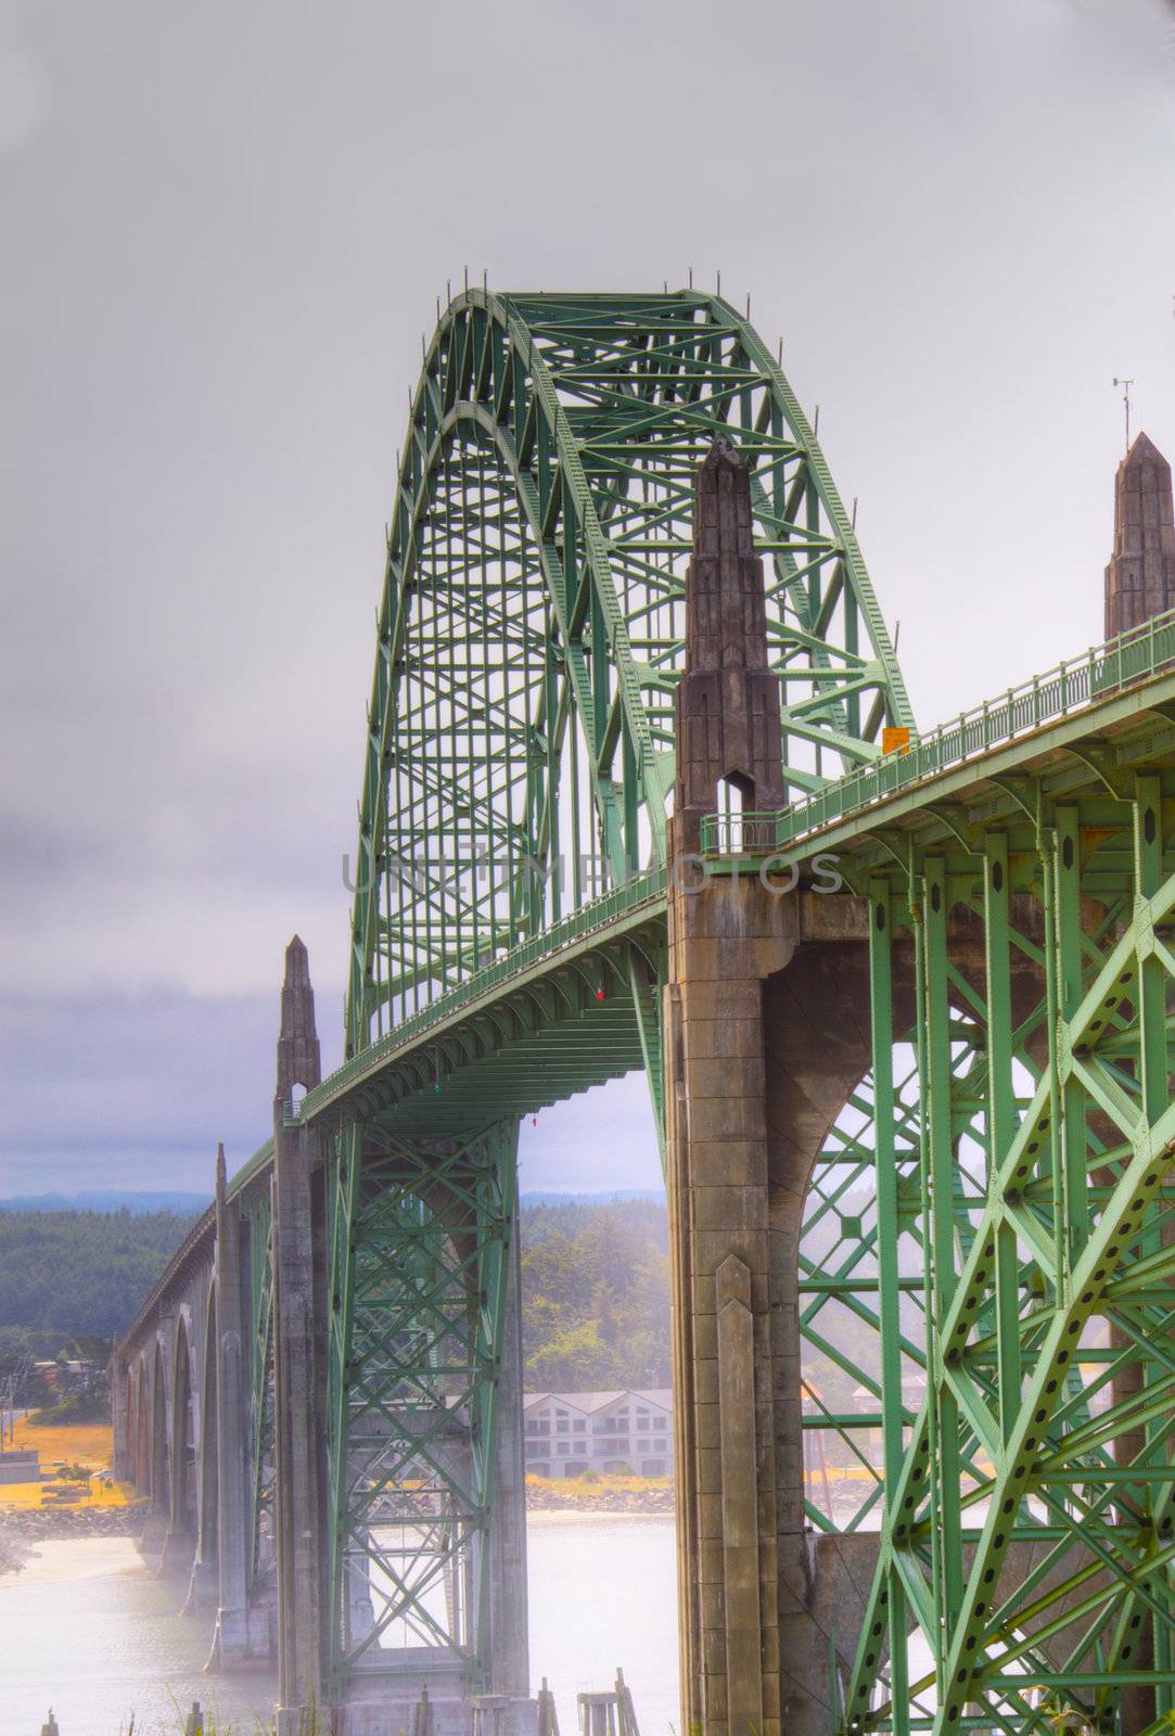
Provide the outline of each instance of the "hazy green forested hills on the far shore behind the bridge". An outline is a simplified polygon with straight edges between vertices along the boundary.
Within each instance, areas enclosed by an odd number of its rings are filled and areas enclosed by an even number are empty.
[[[0,1358],[118,1337],[191,1227],[174,1212],[0,1208]],[[522,1207],[528,1387],[670,1384],[665,1207]]]

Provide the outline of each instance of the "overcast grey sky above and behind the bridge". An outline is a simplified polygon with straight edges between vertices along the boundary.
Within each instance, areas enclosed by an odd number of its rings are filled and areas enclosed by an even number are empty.
[[[1175,451],[1166,0],[0,3],[0,1196],[203,1187],[281,953],[340,1052],[434,297],[752,293],[923,726],[1102,630],[1114,373]],[[640,1080],[528,1187],[651,1184]]]

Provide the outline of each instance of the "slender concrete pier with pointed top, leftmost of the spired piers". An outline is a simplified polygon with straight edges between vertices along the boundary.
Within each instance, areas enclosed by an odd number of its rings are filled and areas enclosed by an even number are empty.
[[[217,1151],[217,1627],[210,1665],[248,1658],[246,1380],[241,1299],[241,1220],[226,1198],[224,1146]]]

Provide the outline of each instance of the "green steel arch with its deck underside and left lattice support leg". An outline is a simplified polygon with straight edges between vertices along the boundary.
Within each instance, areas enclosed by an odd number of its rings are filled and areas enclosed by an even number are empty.
[[[852,524],[753,328],[693,290],[472,290],[425,349],[387,535],[347,1057],[305,1104],[331,1123],[338,1694],[389,1646],[493,1679],[519,1090],[533,1108],[644,1061],[661,1118],[673,689],[694,470],[719,432],[752,474],[786,786],[809,797],[911,717]],[[450,1031],[467,998],[467,1035]]]

